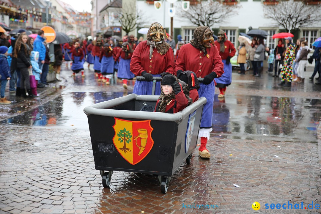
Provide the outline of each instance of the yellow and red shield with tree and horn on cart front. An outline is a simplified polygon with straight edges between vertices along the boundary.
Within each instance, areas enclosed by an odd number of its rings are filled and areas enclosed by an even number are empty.
[[[130,164],[137,164],[143,160],[154,145],[150,120],[130,121],[115,118],[113,125],[115,135],[114,145]]]

